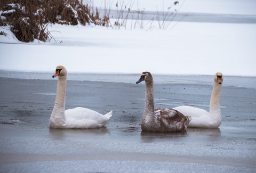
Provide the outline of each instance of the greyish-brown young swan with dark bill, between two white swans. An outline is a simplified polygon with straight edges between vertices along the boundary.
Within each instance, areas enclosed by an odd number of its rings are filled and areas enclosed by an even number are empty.
[[[182,113],[171,108],[154,109],[154,81],[150,72],[143,72],[136,84],[143,80],[146,83],[146,102],[141,123],[142,131],[186,131],[190,117],[185,117]]]

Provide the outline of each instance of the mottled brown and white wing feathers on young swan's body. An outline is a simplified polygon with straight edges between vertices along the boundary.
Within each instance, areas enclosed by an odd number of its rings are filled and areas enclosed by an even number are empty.
[[[183,131],[187,129],[190,121],[189,116],[184,116],[177,110],[171,108],[157,108],[155,111],[155,117],[160,122],[161,126],[159,131]]]

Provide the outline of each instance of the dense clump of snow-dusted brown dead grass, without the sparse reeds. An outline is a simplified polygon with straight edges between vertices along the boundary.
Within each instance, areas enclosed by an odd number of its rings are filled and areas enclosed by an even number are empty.
[[[47,23],[82,25],[94,23],[100,26],[109,24],[109,17],[100,18],[89,4],[81,0],[1,0],[0,26],[9,26],[21,42],[34,39],[46,42],[52,37]]]

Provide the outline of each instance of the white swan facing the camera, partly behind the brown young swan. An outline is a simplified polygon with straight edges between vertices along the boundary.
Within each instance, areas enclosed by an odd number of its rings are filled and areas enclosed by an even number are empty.
[[[192,120],[189,122],[188,127],[218,128],[220,126],[220,94],[222,82],[222,73],[216,73],[216,75],[214,76],[214,85],[212,89],[209,112],[191,106],[178,106],[176,108],[173,108],[183,114],[188,114],[189,116],[191,116]]]

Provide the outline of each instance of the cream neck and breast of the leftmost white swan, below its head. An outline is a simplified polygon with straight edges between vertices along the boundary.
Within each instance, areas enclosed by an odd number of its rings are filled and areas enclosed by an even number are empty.
[[[51,114],[50,126],[62,126],[65,121],[67,76],[58,76],[57,93]],[[52,124],[51,124],[52,123]]]

